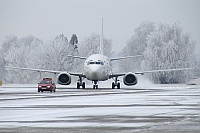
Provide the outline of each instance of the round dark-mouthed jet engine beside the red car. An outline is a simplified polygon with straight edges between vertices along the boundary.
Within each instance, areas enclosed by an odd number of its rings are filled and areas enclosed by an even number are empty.
[[[69,85],[71,84],[71,76],[67,72],[62,72],[58,75],[57,77],[57,82],[58,84],[61,85]]]

